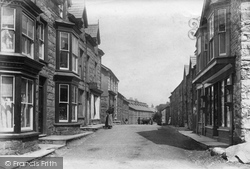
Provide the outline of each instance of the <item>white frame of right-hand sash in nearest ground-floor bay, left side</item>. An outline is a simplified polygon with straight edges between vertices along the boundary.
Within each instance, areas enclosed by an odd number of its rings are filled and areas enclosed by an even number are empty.
[[[27,79],[27,78],[21,78],[21,79],[24,79],[24,80],[26,80],[26,101],[25,102],[23,102],[22,100],[21,100],[21,105],[22,104],[26,104],[26,105],[31,105],[32,106],[32,109],[31,109],[31,112],[29,112],[30,113],[30,126],[29,127],[22,127],[21,126],[21,131],[29,131],[29,130],[33,130],[33,114],[34,114],[34,81],[33,80],[31,80],[31,79]],[[28,97],[28,89],[29,89],[29,83],[28,82],[32,82],[32,90],[31,90],[31,97],[32,97],[32,99],[31,99],[31,103],[29,103],[29,101],[28,101],[28,99],[27,99],[27,97]],[[22,118],[22,116],[21,116],[21,118]]]

